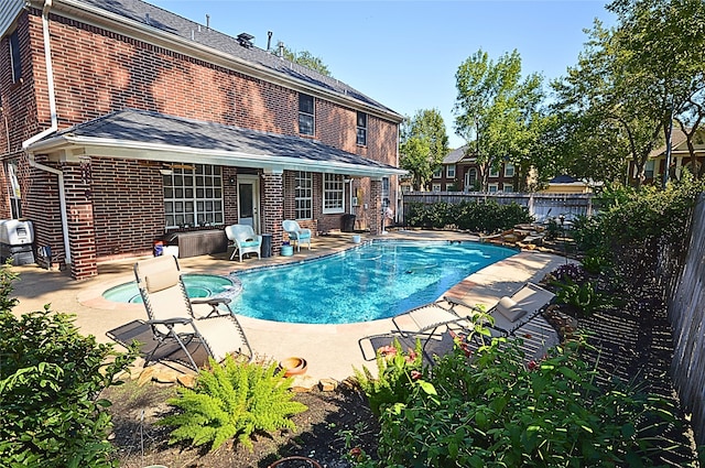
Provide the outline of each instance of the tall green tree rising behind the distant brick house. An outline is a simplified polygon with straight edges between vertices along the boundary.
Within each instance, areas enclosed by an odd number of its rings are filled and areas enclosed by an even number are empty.
[[[476,157],[481,189],[487,189],[489,171],[502,162],[518,166],[523,181],[544,126],[543,78],[532,74],[522,79],[516,50],[497,62],[479,50],[458,67],[455,78],[455,131]]]

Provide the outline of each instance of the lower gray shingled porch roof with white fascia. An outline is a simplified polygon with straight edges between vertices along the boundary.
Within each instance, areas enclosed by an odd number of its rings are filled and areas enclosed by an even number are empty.
[[[77,151],[79,149],[85,151]],[[134,109],[116,111],[62,130],[31,144],[28,150],[61,157],[83,153],[365,177],[406,173],[317,140]]]

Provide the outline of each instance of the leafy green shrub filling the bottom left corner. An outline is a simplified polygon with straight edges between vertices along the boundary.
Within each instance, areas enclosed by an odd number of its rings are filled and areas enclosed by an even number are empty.
[[[84,337],[66,314],[17,317],[0,268],[0,459],[8,467],[111,467],[110,404],[99,399],[134,359]],[[106,364],[109,358],[113,362]]]

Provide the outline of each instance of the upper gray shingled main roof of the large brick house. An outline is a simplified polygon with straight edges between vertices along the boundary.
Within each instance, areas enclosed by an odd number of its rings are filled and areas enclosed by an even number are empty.
[[[386,118],[401,122],[403,117],[380,102],[371,99],[355,88],[339,81],[336,78],[322,75],[307,67],[294,64],[286,59],[259,48],[257,46],[243,46],[236,37],[220,33],[212,28],[206,28],[195,21],[187,20],[178,14],[154,7],[140,0],[54,0],[54,6],[61,4],[69,9],[94,10],[95,8],[113,15],[122,17],[123,21],[140,23],[143,31],[159,30],[163,33],[177,36],[185,44],[206,46],[218,51],[238,62],[250,64],[254,69],[267,69],[270,73],[304,83],[325,92],[333,92],[345,100],[357,101],[370,109],[381,112]],[[91,8],[93,7],[93,8]],[[265,7],[263,7],[265,9]],[[91,11],[98,13],[96,11]],[[108,17],[102,14],[101,17]],[[243,28],[247,28],[246,25]]]

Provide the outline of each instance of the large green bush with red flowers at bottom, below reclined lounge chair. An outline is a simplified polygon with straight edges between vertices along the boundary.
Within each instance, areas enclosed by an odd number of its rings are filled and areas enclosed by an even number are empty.
[[[501,339],[473,359],[456,348],[383,406],[377,466],[653,466],[649,440],[675,421],[672,409],[633,388],[597,388],[579,346],[528,366]]]

